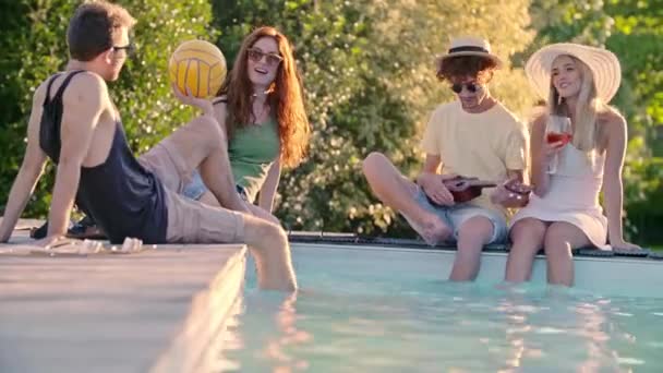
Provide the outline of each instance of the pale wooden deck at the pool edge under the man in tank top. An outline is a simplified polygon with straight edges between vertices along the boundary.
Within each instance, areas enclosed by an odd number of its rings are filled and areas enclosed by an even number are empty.
[[[26,240],[17,231],[11,242]],[[218,363],[209,346],[241,302],[244,245],[55,257],[7,249],[0,372],[198,372]]]

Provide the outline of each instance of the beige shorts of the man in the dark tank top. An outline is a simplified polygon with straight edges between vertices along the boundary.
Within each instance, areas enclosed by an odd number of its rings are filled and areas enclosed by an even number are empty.
[[[179,131],[185,131],[180,129]],[[189,200],[180,193],[191,181],[193,169],[167,137],[138,161],[164,184],[170,243],[239,243],[244,239],[242,214]]]

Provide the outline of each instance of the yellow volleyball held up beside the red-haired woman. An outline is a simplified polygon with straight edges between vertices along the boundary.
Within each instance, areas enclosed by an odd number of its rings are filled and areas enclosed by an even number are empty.
[[[170,82],[182,94],[189,92],[201,98],[217,94],[226,79],[226,58],[217,46],[205,40],[182,43],[170,56],[168,63]]]

